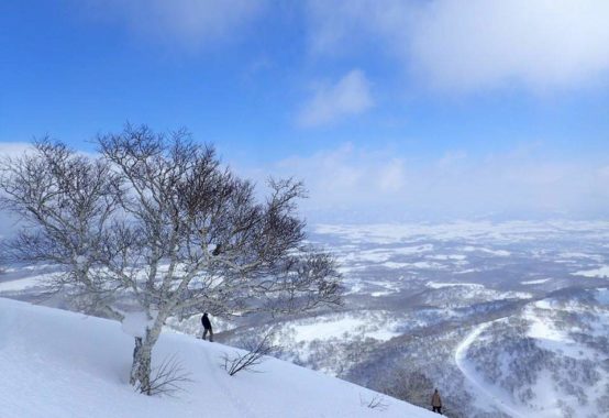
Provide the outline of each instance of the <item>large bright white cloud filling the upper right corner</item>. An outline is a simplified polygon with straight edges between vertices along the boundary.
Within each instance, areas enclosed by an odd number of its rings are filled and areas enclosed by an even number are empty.
[[[442,0],[421,18],[412,57],[440,88],[571,88],[609,70],[605,0]]]

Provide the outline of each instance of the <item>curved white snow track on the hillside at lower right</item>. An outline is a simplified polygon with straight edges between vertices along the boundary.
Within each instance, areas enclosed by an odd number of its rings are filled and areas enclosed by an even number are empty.
[[[512,418],[525,418],[524,415],[516,410],[512,406],[507,405],[497,394],[494,394],[492,389],[489,389],[489,384],[478,380],[476,370],[467,364],[467,350],[474,341],[487,329],[492,322],[484,322],[477,326],[465,337],[465,339],[457,345],[455,350],[455,363],[461,370],[461,373],[469,382],[469,384],[476,389],[474,394],[477,398],[484,397],[487,404],[491,407],[499,409],[500,411],[509,415]]]

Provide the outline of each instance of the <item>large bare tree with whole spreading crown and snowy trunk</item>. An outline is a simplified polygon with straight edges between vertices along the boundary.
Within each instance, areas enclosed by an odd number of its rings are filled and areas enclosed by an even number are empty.
[[[7,207],[35,227],[18,240],[35,255],[30,260],[64,265],[69,284],[95,295],[91,304],[114,318],[121,317],[115,301],[125,296],[145,312],[131,372],[143,393],[151,394],[152,350],[170,316],[294,312],[340,302],[333,257],[304,244],[300,183],[270,180],[269,196],[258,201],[251,182],[184,131],[126,127],[98,142],[100,161],[36,145],[33,156],[4,164],[0,186]],[[54,170],[55,160],[64,169]]]

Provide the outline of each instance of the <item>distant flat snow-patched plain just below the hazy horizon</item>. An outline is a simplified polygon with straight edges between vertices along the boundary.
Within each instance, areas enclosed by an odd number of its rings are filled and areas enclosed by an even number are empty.
[[[336,255],[348,295],[391,297],[457,275],[533,293],[578,284],[582,276],[609,278],[607,221],[318,224],[312,239]]]

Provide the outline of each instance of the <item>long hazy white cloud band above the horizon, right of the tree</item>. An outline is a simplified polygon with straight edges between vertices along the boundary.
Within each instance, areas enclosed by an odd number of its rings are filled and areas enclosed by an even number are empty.
[[[543,148],[468,156],[457,151],[412,161],[395,151],[344,145],[268,169],[304,180],[308,211],[368,211],[379,219],[487,213],[598,216],[609,210],[607,161],[547,158]]]

